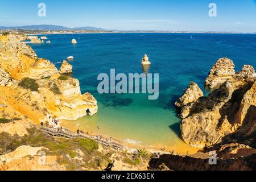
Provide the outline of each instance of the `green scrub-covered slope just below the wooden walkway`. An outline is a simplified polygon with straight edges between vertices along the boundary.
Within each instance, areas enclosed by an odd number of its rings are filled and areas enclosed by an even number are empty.
[[[57,156],[57,162],[68,170],[100,169],[108,165],[109,160],[97,151],[98,143],[92,139],[53,138],[42,131],[27,129],[24,137],[0,133],[0,155],[13,152],[20,146],[46,147],[46,155]]]

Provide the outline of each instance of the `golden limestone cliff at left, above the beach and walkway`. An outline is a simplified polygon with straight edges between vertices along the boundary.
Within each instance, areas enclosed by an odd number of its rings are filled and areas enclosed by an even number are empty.
[[[65,67],[67,71],[70,69]],[[34,86],[34,90],[28,89],[29,86]],[[55,65],[38,58],[30,46],[20,42],[19,35],[0,36],[0,87],[3,101],[0,104],[6,105],[0,110],[15,113],[9,114],[8,119],[20,115],[38,123],[49,114],[75,120],[98,110],[92,95],[81,94],[79,80],[61,78]],[[2,114],[2,118],[6,115]]]

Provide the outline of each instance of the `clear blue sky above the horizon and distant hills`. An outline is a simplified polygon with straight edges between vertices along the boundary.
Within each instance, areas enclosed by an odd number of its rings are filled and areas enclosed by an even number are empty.
[[[46,4],[46,17],[38,4]],[[209,17],[209,3],[217,17]],[[1,0],[0,26],[56,24],[118,30],[256,32],[256,0]]]

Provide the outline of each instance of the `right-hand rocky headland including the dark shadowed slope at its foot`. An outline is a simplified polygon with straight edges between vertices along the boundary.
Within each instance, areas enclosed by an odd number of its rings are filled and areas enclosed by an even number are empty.
[[[150,169],[255,170],[256,162],[256,77],[251,65],[240,72],[232,60],[223,57],[210,69],[204,96],[191,82],[175,102],[180,137],[194,147],[195,155],[162,155],[152,159]],[[217,165],[209,165],[209,152],[216,151]]]

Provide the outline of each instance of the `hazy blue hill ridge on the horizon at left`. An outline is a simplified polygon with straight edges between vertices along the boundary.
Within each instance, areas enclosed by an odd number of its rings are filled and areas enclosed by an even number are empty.
[[[40,25],[30,25],[30,26],[16,26],[16,27],[1,27],[0,29],[20,29],[20,30],[100,30],[100,31],[108,31],[104,28],[96,28],[96,27],[76,27],[69,28],[63,26],[57,26],[52,24],[40,24]]]

